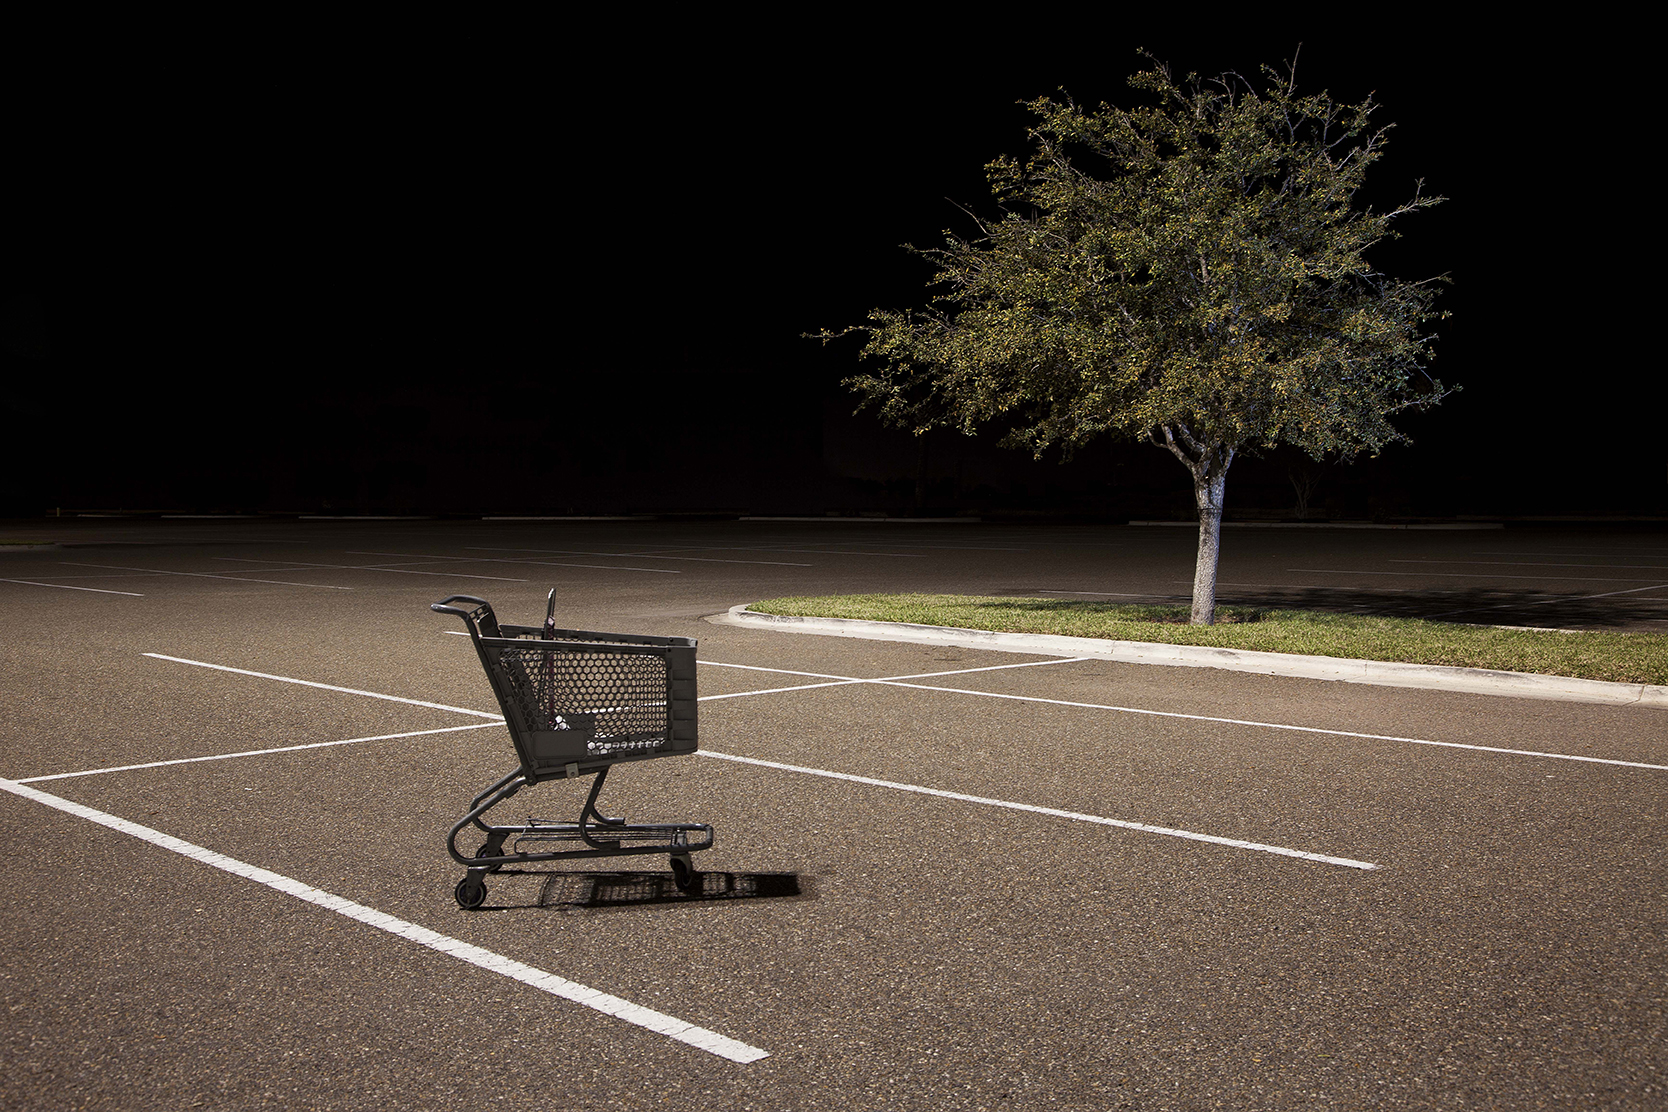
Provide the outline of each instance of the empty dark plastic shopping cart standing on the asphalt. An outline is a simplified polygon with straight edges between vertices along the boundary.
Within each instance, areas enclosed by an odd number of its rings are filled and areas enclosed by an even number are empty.
[[[469,609],[454,602],[469,604]],[[492,604],[470,595],[450,595],[429,609],[464,619],[520,759],[520,765],[477,795],[469,814],[452,827],[447,852],[469,869],[457,882],[457,905],[480,907],[490,872],[565,857],[666,854],[677,887],[696,889],[701,874],[689,855],[712,847],[711,825],[629,824],[597,812],[602,782],[615,764],[696,752],[694,639],[555,629],[555,590],[547,599],[544,627],[499,625]],[[585,775],[595,780],[577,822],[529,819],[524,825],[494,825],[485,820],[489,810],[530,784]],[[465,827],[487,835],[472,855],[457,847],[457,835]],[[537,849],[564,842],[582,847]]]

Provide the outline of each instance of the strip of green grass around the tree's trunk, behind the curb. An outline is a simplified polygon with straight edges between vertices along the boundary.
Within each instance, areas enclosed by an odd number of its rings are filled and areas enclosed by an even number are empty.
[[[1565,634],[1256,607],[1218,607],[1216,625],[1188,625],[1188,607],[979,595],[767,599],[747,609],[761,614],[914,622],[1004,634],[1064,634],[1166,645],[1213,645],[1311,657],[1538,672],[1621,684],[1668,684],[1665,634]]]

